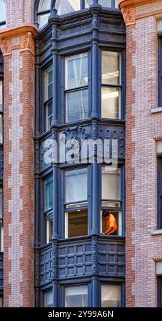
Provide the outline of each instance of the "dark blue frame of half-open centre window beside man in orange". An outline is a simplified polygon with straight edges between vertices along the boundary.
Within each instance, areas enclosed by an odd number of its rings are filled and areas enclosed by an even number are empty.
[[[77,171],[79,169],[87,169],[87,200],[83,200],[83,201],[75,201],[75,202],[71,202],[71,203],[66,203],[66,172],[67,171]],[[64,238],[66,240],[71,239],[71,238],[81,238],[81,237],[85,237],[85,236],[89,236],[90,235],[90,166],[79,166],[79,167],[68,167],[66,169],[64,169],[63,171],[63,182],[64,182]],[[66,206],[70,206],[70,204],[74,204],[74,206],[70,207],[70,208],[66,208]],[[83,204],[83,206],[81,207],[77,207],[77,204]],[[85,204],[85,205],[84,205]],[[77,210],[87,210],[87,235],[83,235],[83,236],[72,236],[72,237],[68,237],[68,213],[70,212],[74,212]]]

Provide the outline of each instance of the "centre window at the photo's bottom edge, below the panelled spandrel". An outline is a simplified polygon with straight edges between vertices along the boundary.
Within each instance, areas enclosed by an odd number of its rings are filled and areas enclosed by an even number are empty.
[[[87,285],[65,288],[65,307],[87,307]]]

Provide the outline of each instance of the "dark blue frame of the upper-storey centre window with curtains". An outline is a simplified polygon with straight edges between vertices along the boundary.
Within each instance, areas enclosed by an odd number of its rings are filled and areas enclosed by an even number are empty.
[[[72,56],[77,56],[77,55],[81,55],[81,54],[84,54],[84,53],[87,53],[87,86],[81,86],[81,87],[74,87],[72,89],[66,89],[66,59],[68,57],[72,57]],[[62,117],[62,120],[63,120],[63,123],[64,124],[75,124],[76,122],[85,122],[87,121],[89,118],[90,118],[90,106],[91,106],[91,49],[89,47],[87,47],[86,50],[84,51],[78,51],[78,52],[72,52],[70,53],[70,55],[64,55],[62,56],[62,66],[63,66],[63,72],[62,72],[62,88],[63,89],[63,92],[62,92],[62,100],[63,100],[63,103],[62,103],[62,106],[63,106],[63,117]],[[66,94],[70,93],[70,92],[79,92],[81,90],[86,90],[87,89],[87,118],[83,118],[81,120],[74,120],[73,122],[67,122],[66,121]]]

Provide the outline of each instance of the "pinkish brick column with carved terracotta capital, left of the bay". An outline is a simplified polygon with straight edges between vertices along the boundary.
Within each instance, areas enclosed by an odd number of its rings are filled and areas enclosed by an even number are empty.
[[[4,57],[4,306],[33,307],[34,25],[0,32]]]

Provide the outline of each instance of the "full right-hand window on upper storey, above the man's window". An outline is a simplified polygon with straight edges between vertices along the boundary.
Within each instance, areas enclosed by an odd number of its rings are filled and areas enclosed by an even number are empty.
[[[121,118],[120,53],[102,52],[101,117]]]

